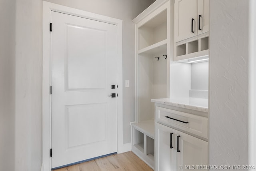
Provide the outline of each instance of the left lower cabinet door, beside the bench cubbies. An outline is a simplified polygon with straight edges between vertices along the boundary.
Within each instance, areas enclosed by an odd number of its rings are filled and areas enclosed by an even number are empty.
[[[177,131],[159,123],[155,123],[155,128],[155,171],[174,171]]]

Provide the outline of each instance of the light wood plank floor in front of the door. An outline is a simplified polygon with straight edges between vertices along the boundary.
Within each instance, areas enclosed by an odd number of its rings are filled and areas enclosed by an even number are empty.
[[[110,155],[54,171],[153,171],[132,151]]]

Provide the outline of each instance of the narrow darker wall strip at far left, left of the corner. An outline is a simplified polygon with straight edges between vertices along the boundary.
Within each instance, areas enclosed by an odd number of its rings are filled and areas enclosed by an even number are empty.
[[[0,0],[0,171],[14,171],[15,0]]]

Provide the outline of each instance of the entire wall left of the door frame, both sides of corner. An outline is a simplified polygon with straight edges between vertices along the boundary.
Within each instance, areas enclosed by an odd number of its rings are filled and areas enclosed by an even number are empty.
[[[42,0],[1,0],[0,18],[0,171],[39,171]]]

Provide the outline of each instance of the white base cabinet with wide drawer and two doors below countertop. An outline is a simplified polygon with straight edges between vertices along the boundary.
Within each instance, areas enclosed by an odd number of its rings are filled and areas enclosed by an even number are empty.
[[[153,101],[156,105],[155,171],[200,170],[199,166],[208,165],[206,108],[183,109],[162,104],[161,100]]]

